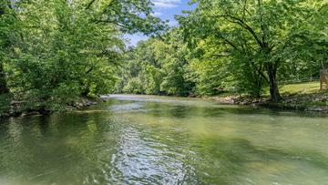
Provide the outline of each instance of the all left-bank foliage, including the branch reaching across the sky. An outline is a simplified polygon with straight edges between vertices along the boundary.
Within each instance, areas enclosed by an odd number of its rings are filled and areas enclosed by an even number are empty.
[[[56,110],[113,91],[124,33],[156,34],[165,25],[149,0],[2,1],[0,94],[21,106]]]

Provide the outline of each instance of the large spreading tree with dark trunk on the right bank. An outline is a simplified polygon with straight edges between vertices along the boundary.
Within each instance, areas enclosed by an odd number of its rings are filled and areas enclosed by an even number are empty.
[[[281,99],[277,84],[280,67],[295,59],[291,56],[302,57],[299,55],[302,51],[295,47],[300,40],[309,40],[302,26],[324,5],[322,1],[302,0],[194,0],[192,3],[197,3],[196,9],[188,16],[179,16],[190,43],[214,38],[220,46],[216,55],[241,64],[251,72],[249,77],[254,76],[251,81],[259,84],[258,88],[261,81],[269,83],[275,102]]]

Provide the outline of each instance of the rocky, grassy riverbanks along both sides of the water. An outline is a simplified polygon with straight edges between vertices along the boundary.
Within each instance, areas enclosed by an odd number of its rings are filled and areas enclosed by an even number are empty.
[[[262,98],[250,98],[247,96],[233,95],[229,93],[220,96],[199,98],[212,99],[222,104],[248,105],[262,108],[328,113],[328,91],[320,91],[318,82],[284,85],[281,86],[280,90],[282,93],[282,101],[278,103],[272,103],[270,101],[268,90],[263,93]],[[190,96],[190,98],[196,98],[196,96]],[[24,106],[26,103],[30,102],[14,101],[12,99],[13,98],[9,95],[0,97],[0,118],[17,117],[21,115],[49,114],[54,111],[67,111],[77,108],[84,108],[96,105],[101,101],[106,101],[108,96],[92,99],[80,98],[80,100],[72,105],[64,105],[63,108],[53,111],[31,109],[28,106]]]

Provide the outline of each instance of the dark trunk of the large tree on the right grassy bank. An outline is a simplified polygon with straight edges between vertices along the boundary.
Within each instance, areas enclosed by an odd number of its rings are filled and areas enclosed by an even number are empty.
[[[277,84],[277,65],[268,64],[268,76],[270,83],[270,95],[272,102],[278,102],[282,100],[282,96],[279,92],[279,87]]]

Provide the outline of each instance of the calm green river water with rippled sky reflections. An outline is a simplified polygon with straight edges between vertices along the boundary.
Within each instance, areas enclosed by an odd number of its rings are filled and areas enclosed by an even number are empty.
[[[114,96],[0,119],[0,184],[328,184],[328,117]]]

